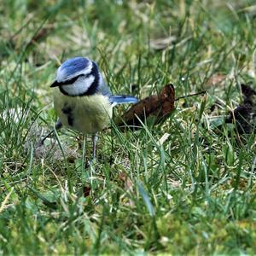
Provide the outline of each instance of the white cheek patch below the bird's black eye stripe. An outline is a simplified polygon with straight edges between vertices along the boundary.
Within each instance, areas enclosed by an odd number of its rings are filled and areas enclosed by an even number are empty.
[[[90,88],[90,85],[94,82],[94,79],[95,77],[93,75],[88,78],[81,77],[73,84],[61,85],[61,89],[65,90],[70,96],[83,95]]]

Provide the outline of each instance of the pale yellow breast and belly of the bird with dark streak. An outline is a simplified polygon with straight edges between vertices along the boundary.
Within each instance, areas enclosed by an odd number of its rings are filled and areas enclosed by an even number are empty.
[[[102,131],[112,118],[108,96],[66,96],[55,88],[54,104],[61,123],[83,133]]]

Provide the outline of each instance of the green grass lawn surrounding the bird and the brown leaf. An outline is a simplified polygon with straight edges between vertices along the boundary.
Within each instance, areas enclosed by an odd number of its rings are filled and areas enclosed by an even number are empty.
[[[255,132],[224,124],[240,84],[255,89],[254,1],[3,3],[0,254],[256,253]],[[77,55],[114,93],[172,82],[176,96],[207,96],[177,101],[161,125],[113,125],[88,167],[90,137],[37,144],[56,118],[56,67]]]

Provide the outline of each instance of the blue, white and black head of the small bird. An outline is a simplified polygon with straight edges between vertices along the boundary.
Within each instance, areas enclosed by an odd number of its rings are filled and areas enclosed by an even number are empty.
[[[61,64],[50,87],[58,86],[67,96],[90,96],[96,93],[102,76],[95,62],[75,57]]]

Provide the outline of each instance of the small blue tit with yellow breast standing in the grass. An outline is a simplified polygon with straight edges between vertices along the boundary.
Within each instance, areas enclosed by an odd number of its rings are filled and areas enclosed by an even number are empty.
[[[138,102],[135,96],[113,95],[96,62],[87,57],[73,57],[63,62],[50,87],[54,90],[54,107],[58,116],[55,129],[66,126],[91,134],[93,159],[96,159],[98,132],[108,127],[113,107]]]

